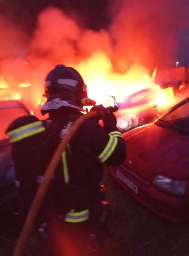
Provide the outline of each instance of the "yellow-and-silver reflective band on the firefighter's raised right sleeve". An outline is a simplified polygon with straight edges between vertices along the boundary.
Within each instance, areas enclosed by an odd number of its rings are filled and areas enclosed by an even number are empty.
[[[117,146],[117,143],[118,143],[118,138],[113,137],[112,135],[109,135],[109,136],[110,136],[109,142],[107,143],[102,153],[98,156],[98,158],[101,159],[101,162],[105,162],[110,157],[110,155],[114,152],[115,147]]]

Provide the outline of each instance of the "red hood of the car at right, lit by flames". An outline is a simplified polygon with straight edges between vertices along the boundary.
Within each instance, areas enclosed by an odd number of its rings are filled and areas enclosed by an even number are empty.
[[[123,165],[144,180],[152,181],[156,174],[189,180],[189,136],[153,123],[123,137],[127,146]]]

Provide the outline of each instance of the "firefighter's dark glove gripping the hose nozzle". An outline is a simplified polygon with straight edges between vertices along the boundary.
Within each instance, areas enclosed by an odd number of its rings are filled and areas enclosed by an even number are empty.
[[[117,131],[117,119],[112,112],[110,112],[107,108],[103,105],[97,105],[91,108],[91,111],[97,111],[98,116],[95,117],[95,120],[99,121],[102,119],[104,123],[104,128],[107,133],[111,131]]]

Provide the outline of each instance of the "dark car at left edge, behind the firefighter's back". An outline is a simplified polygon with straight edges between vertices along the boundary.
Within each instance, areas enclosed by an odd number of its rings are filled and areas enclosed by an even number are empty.
[[[17,117],[29,115],[25,105],[16,100],[0,101],[0,208],[7,204],[15,191],[14,164],[11,158],[11,144],[5,131]]]

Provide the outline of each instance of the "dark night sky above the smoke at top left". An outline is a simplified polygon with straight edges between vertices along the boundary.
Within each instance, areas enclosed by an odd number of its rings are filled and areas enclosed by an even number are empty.
[[[1,0],[1,11],[30,30],[34,29],[39,12],[54,6],[75,19],[82,19],[88,28],[99,30],[107,28],[111,22],[107,12],[110,4],[111,0]]]

